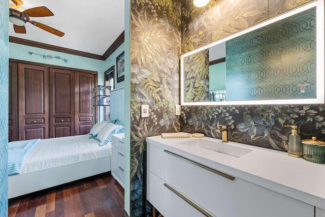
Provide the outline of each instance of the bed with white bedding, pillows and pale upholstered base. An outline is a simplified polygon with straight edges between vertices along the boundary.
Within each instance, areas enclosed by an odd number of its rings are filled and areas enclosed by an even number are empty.
[[[111,135],[124,132],[124,128],[101,122],[103,126],[94,125],[92,130],[95,130],[90,135],[42,139],[33,143],[19,167],[19,174],[14,172],[8,177],[8,198],[110,171]],[[114,129],[107,130],[108,125]],[[9,153],[19,143],[10,145]]]

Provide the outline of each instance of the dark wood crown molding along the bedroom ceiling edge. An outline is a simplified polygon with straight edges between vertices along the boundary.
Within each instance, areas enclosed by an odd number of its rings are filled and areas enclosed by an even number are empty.
[[[93,54],[93,53],[79,51],[79,50],[73,50],[73,49],[69,49],[69,48],[58,47],[55,45],[31,41],[31,40],[27,40],[27,39],[21,39],[21,38],[17,38],[17,37],[13,37],[13,36],[9,36],[9,42],[27,45],[27,46],[31,46],[31,47],[38,47],[38,48],[42,48],[42,49],[46,49],[46,50],[53,50],[53,51],[62,52],[62,53],[69,53],[69,54],[93,58],[93,59],[106,60],[124,42],[124,31],[117,37],[117,39],[105,51],[105,53],[102,56]]]

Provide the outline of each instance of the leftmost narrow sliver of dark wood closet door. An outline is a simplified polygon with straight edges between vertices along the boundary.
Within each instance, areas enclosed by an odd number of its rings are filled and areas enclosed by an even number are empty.
[[[18,140],[18,64],[9,62],[9,142]]]

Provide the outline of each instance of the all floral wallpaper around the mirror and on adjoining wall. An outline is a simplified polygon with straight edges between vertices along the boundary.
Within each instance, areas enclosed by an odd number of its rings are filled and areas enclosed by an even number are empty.
[[[286,124],[297,123],[305,137],[323,135],[322,106],[183,106],[181,117],[175,116],[181,53],[307,2],[276,1],[283,4],[275,9],[268,8],[269,0],[210,0],[204,8],[194,8],[192,0],[131,1],[132,217],[151,215],[144,197],[146,137],[182,130],[220,138],[214,130],[228,123],[233,141],[285,151]],[[141,118],[142,104],[149,105],[149,117]]]

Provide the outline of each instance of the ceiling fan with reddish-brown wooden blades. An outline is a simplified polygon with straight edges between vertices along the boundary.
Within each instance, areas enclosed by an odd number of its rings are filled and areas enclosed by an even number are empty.
[[[19,6],[23,4],[21,0],[11,0],[14,4],[9,4],[9,20],[14,24],[15,33],[26,33],[25,23],[29,22],[43,30],[62,37],[64,33],[43,23],[30,20],[30,17],[48,17],[54,16],[52,11],[46,7],[36,7],[23,10]]]

